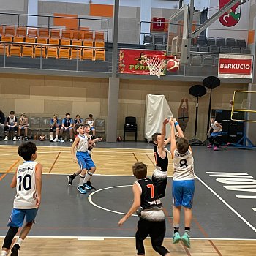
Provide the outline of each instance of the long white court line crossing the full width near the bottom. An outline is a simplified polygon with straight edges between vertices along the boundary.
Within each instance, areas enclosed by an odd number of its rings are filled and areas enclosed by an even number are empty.
[[[0,236],[0,238],[5,238],[5,236]],[[15,236],[18,238],[18,236]],[[80,238],[86,238],[86,236],[27,236],[27,238],[75,238],[78,240],[83,240]],[[135,239],[135,236],[88,236],[87,238],[94,238],[94,240],[101,239]],[[150,239],[149,237],[147,239]],[[167,240],[173,240],[173,237],[165,237]],[[214,240],[214,241],[256,241],[256,239],[241,239],[241,238],[190,238],[190,240]]]

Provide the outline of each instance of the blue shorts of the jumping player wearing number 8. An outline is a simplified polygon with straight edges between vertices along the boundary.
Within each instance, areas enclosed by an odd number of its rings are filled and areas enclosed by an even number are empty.
[[[192,208],[195,181],[173,181],[173,206]]]

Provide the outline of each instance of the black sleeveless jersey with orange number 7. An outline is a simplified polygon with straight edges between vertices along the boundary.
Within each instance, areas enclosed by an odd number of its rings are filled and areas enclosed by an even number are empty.
[[[140,206],[144,209],[161,207],[162,203],[159,200],[159,196],[157,194],[157,190],[154,187],[153,182],[150,178],[143,178],[138,181],[141,187],[141,195],[140,195]]]

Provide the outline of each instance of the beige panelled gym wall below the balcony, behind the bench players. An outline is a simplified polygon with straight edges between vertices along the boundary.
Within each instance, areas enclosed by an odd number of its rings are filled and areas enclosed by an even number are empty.
[[[198,82],[196,83],[198,84]],[[189,124],[186,134],[193,138],[195,129],[195,101],[189,95],[193,82],[163,82],[153,80],[121,80],[118,104],[118,135],[123,135],[125,116],[135,116],[138,120],[138,140],[144,140],[144,116],[147,94],[164,94],[173,116],[177,116],[181,98],[189,99]],[[230,109],[233,91],[247,89],[246,85],[222,83],[213,90],[211,108]],[[208,97],[199,99],[197,138],[206,139]],[[0,78],[0,108],[5,115],[10,110],[25,112],[28,116],[64,117],[80,114],[86,118],[89,113],[94,118],[105,118],[108,113],[108,79],[73,78],[44,75],[2,74]],[[128,136],[127,140],[134,140]]]

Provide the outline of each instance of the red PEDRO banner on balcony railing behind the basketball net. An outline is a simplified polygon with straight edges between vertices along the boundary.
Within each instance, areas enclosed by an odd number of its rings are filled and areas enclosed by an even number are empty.
[[[159,58],[163,58],[165,51],[121,49],[119,53],[119,72],[149,75],[146,56],[159,56]]]

